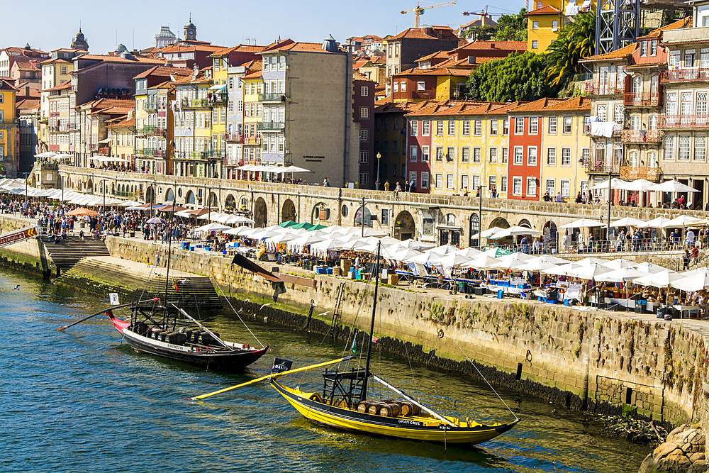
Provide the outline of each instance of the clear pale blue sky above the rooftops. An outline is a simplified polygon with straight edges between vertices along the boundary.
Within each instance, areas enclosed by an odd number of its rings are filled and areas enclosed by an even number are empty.
[[[490,0],[457,0],[457,4],[428,9],[420,21],[457,28],[475,17],[462,11],[480,11]],[[128,49],[148,48],[161,25],[169,25],[180,38],[192,13],[197,39],[223,46],[255,38],[265,45],[277,39],[320,43],[328,34],[340,43],[350,36],[396,34],[413,28],[415,0],[58,0],[7,2],[0,16],[0,47],[24,46],[50,51],[67,48],[79,29],[89,50],[105,54],[123,43]],[[422,0],[421,6],[447,3]],[[519,11],[522,0],[493,2],[490,11]],[[13,14],[15,11],[16,15]],[[496,18],[496,17],[493,17]]]

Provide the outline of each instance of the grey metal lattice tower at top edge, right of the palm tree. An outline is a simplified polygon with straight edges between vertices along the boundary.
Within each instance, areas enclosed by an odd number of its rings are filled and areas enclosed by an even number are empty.
[[[596,54],[635,42],[640,35],[640,0],[598,0]]]

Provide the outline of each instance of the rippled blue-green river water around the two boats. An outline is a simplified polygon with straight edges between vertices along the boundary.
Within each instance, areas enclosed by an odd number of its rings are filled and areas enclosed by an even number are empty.
[[[55,330],[105,306],[0,269],[0,471],[615,473],[637,472],[651,450],[601,435],[581,413],[509,392],[501,395],[523,422],[473,450],[311,425],[268,384],[196,403],[186,398],[266,374],[274,356],[297,367],[339,357],[342,346],[252,326],[269,353],[244,374],[223,374],[135,353],[106,317]],[[231,313],[202,318],[223,338],[255,344]],[[372,367],[443,411],[512,418],[489,388],[469,379],[423,367],[412,377],[406,362],[376,348]],[[317,373],[286,379],[316,390],[322,384]]]

